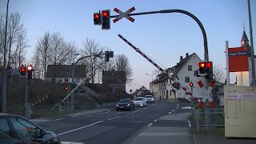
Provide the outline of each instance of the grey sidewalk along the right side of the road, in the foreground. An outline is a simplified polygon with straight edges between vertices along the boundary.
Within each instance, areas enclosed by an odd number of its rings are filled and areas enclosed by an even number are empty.
[[[182,114],[168,114],[161,118],[158,118],[158,121],[166,122],[177,122],[182,123],[183,126],[147,126],[140,131],[140,134],[134,135],[133,138],[128,140],[129,144],[170,144],[170,143],[179,143],[179,144],[190,144],[190,129],[188,126],[187,118],[190,116],[190,113]],[[186,123],[186,126],[184,126]],[[174,125],[174,124],[173,124]]]

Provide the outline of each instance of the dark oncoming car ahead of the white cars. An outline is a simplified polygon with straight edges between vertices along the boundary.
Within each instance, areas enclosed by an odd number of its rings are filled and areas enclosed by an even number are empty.
[[[134,101],[131,98],[121,99],[118,104],[115,105],[115,109],[118,110],[134,110]]]

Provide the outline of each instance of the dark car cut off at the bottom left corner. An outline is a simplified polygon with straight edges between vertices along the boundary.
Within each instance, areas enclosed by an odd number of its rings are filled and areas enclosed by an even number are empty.
[[[56,143],[54,132],[43,130],[30,120],[14,114],[0,114],[0,143]]]

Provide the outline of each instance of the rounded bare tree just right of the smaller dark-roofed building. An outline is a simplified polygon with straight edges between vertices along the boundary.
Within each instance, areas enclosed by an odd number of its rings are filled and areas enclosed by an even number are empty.
[[[130,66],[130,62],[128,57],[125,54],[118,54],[115,58],[114,66],[117,71],[125,71],[126,72],[126,83],[130,84],[134,79],[133,71]]]

